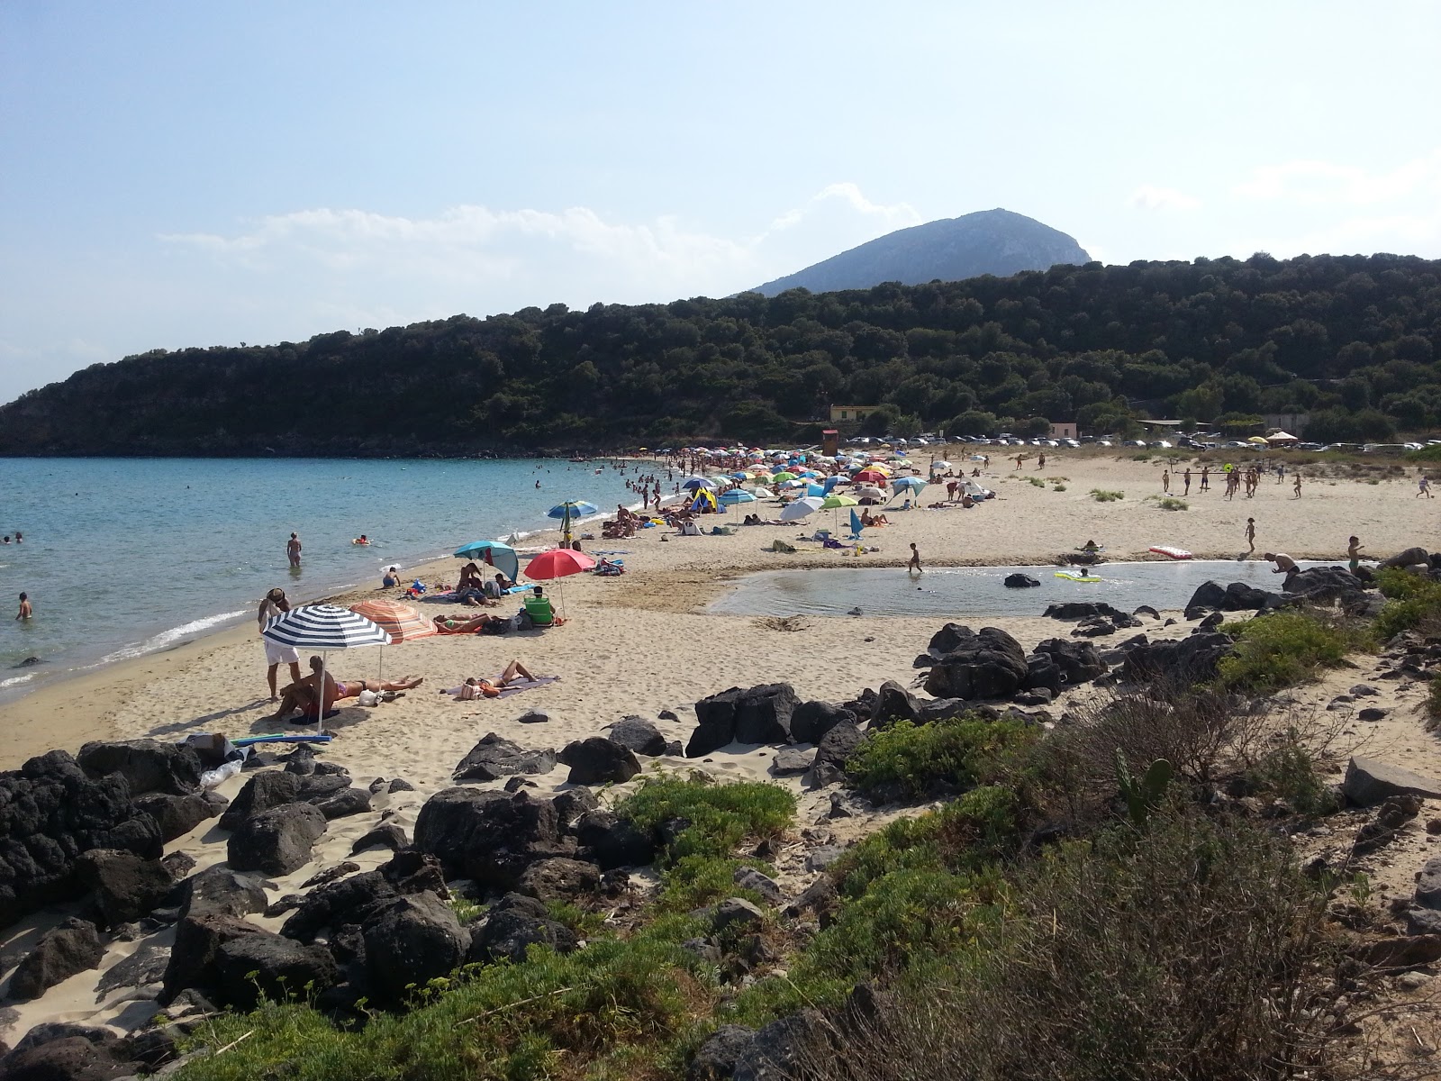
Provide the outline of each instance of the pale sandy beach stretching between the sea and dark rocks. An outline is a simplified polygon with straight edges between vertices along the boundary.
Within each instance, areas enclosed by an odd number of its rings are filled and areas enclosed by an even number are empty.
[[[993,460],[994,464],[994,460]],[[1013,464],[1013,463],[1007,463]],[[1167,512],[1146,496],[1161,491],[1161,466],[1089,455],[1055,455],[1045,473],[1026,463],[1023,476],[991,470],[980,480],[999,499],[963,510],[892,512],[893,525],[867,530],[867,543],[879,552],[863,556],[813,548],[794,555],[767,551],[777,538],[794,542],[797,525],[742,528],[732,536],[669,536],[670,530],[641,530],[623,542],[586,543],[588,549],[624,549],[627,574],[618,578],[575,575],[565,581],[566,624],[545,631],[503,637],[442,636],[386,647],[333,653],[339,679],[375,677],[383,666],[388,679],[422,676],[425,683],[395,702],[362,708],[349,699],[329,722],[334,741],[323,757],[342,762],[357,786],[375,777],[402,777],[415,791],[382,796],[367,814],[337,819],[316,849],[316,859],[293,876],[275,882],[278,894],[291,892],[317,871],[347,859],[357,836],[389,811],[391,822],[406,833],[425,798],[451,783],[460,758],[487,732],[526,747],[561,748],[571,739],[604,734],[627,715],[656,719],[663,712],[677,719],[657,721],[669,739],[684,741],[695,726],[692,705],[729,686],[787,682],[800,698],[844,700],[886,679],[909,683],[916,675],[912,659],[925,650],[942,620],[804,617],[774,620],[706,613],[728,584],[749,571],[798,566],[893,566],[904,574],[909,543],[915,542],[929,565],[1045,564],[1061,552],[1094,538],[1114,559],[1147,558],[1151,545],[1176,545],[1197,556],[1235,559],[1245,552],[1245,520],[1257,519],[1257,558],[1262,551],[1285,551],[1295,558],[1343,559],[1346,538],[1357,533],[1366,552],[1382,558],[1437,536],[1437,503],[1415,499],[1415,481],[1395,479],[1308,477],[1301,499],[1291,486],[1264,480],[1255,499],[1226,502],[1219,487],[1197,493],[1192,486],[1189,510]],[[1045,487],[1030,483],[1043,476]],[[1065,477],[1058,491],[1055,479]],[[1375,480],[1376,483],[1372,483]],[[1173,490],[1180,484],[1173,484]],[[1124,490],[1123,500],[1095,502],[1091,489]],[[932,491],[935,491],[932,489]],[[748,510],[772,513],[769,504]],[[736,519],[738,516],[732,516]],[[829,516],[826,516],[829,517]],[[715,520],[722,520],[720,517]],[[709,525],[709,520],[708,520]],[[816,523],[813,523],[814,528]],[[546,538],[533,538],[543,543]],[[419,571],[428,582],[454,582],[457,561]],[[548,591],[555,595],[558,591]],[[398,591],[357,591],[337,598],[350,604]],[[427,617],[473,613],[458,605],[422,602]],[[514,601],[494,611],[514,611]],[[976,620],[970,620],[981,626]],[[1065,636],[1068,626],[1035,617],[987,620],[1012,633],[1027,650],[1042,639]],[[1190,626],[1147,623],[1153,637],[1180,636]],[[458,702],[440,693],[465,676],[496,676],[519,659],[537,675],[559,680],[501,700]],[[1336,693],[1355,673],[1339,673],[1314,690],[1301,692],[1298,703],[1319,703]],[[1058,706],[1065,709],[1065,699]],[[269,721],[272,705],[265,688],[262,647],[254,624],[180,644],[169,651],[124,662],[91,675],[43,688],[0,711],[7,738],[0,762],[19,767],[50,748],[76,751],[86,739],[183,739],[193,732],[241,737],[281,728]],[[516,724],[526,711],[545,711],[549,722]],[[1405,748],[1409,764],[1424,773],[1441,773],[1435,741],[1422,738],[1419,722],[1396,711],[1395,728],[1365,734],[1395,748]],[[1422,745],[1424,744],[1424,745]],[[768,777],[772,748],[732,745],[702,761],[683,758],[643,760],[647,768],[705,768],[719,777]],[[563,787],[566,771],[536,777],[539,793]],[[220,793],[233,797],[245,777],[228,781]],[[823,793],[801,793],[798,778],[782,781],[803,796],[801,822],[813,820]],[[631,783],[631,786],[635,781]],[[628,790],[607,793],[615,798]],[[213,820],[173,842],[200,866],[223,858],[223,839]],[[380,862],[385,852],[365,853],[363,868]],[[277,894],[277,895],[278,895]],[[14,958],[40,928],[58,918],[55,909],[12,927],[0,944]],[[278,925],[275,921],[259,921]],[[274,930],[274,927],[272,927]],[[125,950],[115,944],[104,967]],[[153,1003],[97,999],[98,971],[75,976],[42,1000],[14,1010],[7,1032],[22,1033],[42,1019],[85,1019],[91,1023],[121,1018],[127,1009]]]

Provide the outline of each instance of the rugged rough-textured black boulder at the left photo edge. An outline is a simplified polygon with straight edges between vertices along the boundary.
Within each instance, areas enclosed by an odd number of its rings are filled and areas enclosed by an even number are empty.
[[[163,852],[160,827],[135,809],[124,775],[91,778],[65,751],[0,773],[0,927],[78,899],[85,886],[75,859],[97,848],[146,859]]]

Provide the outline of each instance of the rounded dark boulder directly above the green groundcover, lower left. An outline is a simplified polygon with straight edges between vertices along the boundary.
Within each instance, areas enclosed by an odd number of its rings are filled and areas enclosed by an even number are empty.
[[[365,927],[366,984],[385,1005],[403,1002],[464,963],[470,933],[435,894],[401,897]]]

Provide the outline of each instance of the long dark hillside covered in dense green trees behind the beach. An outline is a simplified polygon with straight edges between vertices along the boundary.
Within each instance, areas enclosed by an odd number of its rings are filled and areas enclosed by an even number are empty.
[[[1308,438],[1382,440],[1441,425],[1438,326],[1438,264],[1395,255],[552,304],[97,365],[0,408],[0,454],[804,440],[831,404],[879,405],[872,432],[1306,412]]]

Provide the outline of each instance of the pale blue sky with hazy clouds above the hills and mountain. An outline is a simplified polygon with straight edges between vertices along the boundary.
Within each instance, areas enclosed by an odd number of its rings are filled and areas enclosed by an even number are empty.
[[[993,206],[1107,262],[1438,258],[1438,43],[1434,3],[6,0],[0,401]]]

